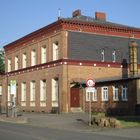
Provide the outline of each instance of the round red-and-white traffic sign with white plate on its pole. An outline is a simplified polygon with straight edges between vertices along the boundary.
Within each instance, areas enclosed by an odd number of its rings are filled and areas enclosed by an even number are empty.
[[[92,98],[91,93],[94,93],[95,92],[95,88],[94,88],[95,82],[94,82],[93,79],[88,79],[86,81],[86,85],[87,85],[87,87],[86,87],[86,93],[87,92],[90,93],[90,100],[89,100],[89,126],[91,126],[91,119],[92,119],[91,118],[91,98]]]

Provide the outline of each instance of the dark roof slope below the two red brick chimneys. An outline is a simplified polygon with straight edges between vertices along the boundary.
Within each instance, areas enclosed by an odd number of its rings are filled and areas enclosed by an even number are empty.
[[[105,20],[97,20],[95,18],[89,17],[89,16],[77,16],[77,17],[71,17],[71,18],[62,18],[63,20],[66,21],[77,21],[77,22],[86,22],[86,23],[93,23],[93,24],[97,24],[97,25],[104,25],[104,26],[113,26],[113,27],[122,27],[122,28],[127,28],[127,29],[136,29],[136,30],[140,30],[140,28],[136,28],[136,27],[131,27],[131,26],[127,26],[127,25],[122,25],[122,24],[117,24],[117,23],[112,23],[109,21],[105,21]]]

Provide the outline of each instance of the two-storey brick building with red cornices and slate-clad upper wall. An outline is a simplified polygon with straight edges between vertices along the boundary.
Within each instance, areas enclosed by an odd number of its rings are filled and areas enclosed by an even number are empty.
[[[134,114],[140,104],[140,28],[108,22],[80,10],[6,46],[1,78],[2,106],[23,111],[88,111],[86,79],[96,82],[92,110]],[[7,94],[6,94],[7,93]]]

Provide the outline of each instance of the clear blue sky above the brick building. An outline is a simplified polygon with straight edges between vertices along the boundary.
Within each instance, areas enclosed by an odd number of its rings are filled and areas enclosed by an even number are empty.
[[[140,0],[0,0],[0,48],[58,18],[71,17],[81,9],[95,17],[105,12],[107,21],[140,28]]]

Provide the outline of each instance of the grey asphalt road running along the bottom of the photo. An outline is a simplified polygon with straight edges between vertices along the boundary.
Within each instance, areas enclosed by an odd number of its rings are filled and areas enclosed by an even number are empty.
[[[60,126],[61,127],[61,126]],[[115,131],[114,131],[115,132]],[[114,133],[111,132],[111,133]],[[80,132],[0,122],[0,140],[138,140],[111,133]]]

